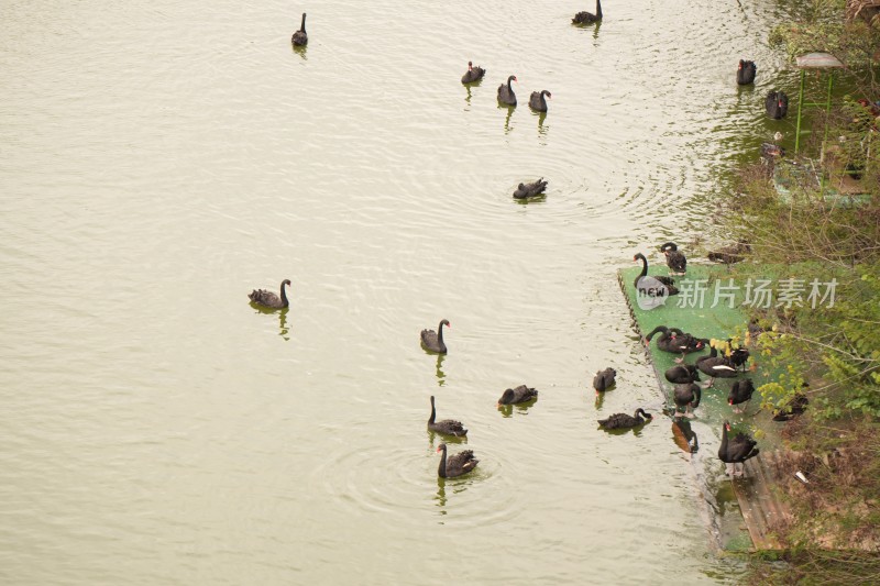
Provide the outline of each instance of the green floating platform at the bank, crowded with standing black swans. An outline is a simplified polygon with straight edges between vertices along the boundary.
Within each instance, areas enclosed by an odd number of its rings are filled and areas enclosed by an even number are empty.
[[[650,267],[648,276],[664,275],[669,272],[662,255],[657,255],[657,265]],[[641,273],[641,266],[618,270],[620,289],[624,292],[635,328],[644,338],[657,325],[679,328],[697,338],[726,341],[739,339],[745,342],[747,331],[748,306],[755,302],[756,286],[759,280],[749,276],[749,272],[737,272],[725,265],[695,265],[690,263],[686,276],[673,276],[678,295],[667,298],[666,302],[651,307],[656,300],[639,298],[635,279]],[[772,287],[765,283],[763,289]],[[747,363],[746,374],[738,378],[751,378],[755,387],[774,380],[776,373],[765,366],[761,356],[754,347]],[[654,341],[646,347],[657,376],[660,392],[667,406],[667,413],[674,412],[673,385],[666,379],[667,368],[674,366],[678,354],[657,349]],[[708,349],[688,354],[686,364],[693,364]],[[703,382],[706,376],[701,375]],[[772,537],[774,522],[788,516],[787,508],[780,502],[774,490],[776,477],[772,471],[778,466],[768,465],[768,460],[776,462],[779,457],[781,441],[779,431],[782,423],[772,421],[771,413],[760,409],[761,397],[755,392],[746,412],[734,413],[727,402],[730,386],[737,378],[716,378],[712,388],[703,390],[700,407],[692,419],[672,418],[668,421],[672,427],[671,439],[691,463],[697,488],[706,505],[710,530],[716,538],[717,545],[725,551],[748,551],[778,549]],[[747,431],[758,440],[761,454],[746,463],[745,477],[728,479],[724,475],[724,464],[718,460],[721,430],[725,420],[730,421],[735,432]],[[691,452],[689,439],[695,436],[695,452]],[[732,490],[733,489],[733,490]],[[738,510],[737,510],[738,508]]]

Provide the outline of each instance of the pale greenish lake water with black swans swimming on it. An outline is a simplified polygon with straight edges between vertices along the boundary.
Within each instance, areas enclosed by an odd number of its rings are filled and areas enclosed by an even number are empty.
[[[734,579],[669,420],[595,420],[662,403],[615,270],[723,237],[791,78],[774,9],[587,4],[0,5],[0,582]],[[430,395],[469,477],[437,478]]]

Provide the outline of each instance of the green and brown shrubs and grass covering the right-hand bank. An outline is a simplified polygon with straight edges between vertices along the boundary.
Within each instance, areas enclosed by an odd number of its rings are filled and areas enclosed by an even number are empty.
[[[832,303],[752,309],[760,353],[782,369],[759,389],[763,407],[806,409],[783,432],[790,480],[777,490],[793,519],[773,532],[784,549],[756,555],[744,581],[880,584],[880,2],[803,2],[802,20],[777,26],[770,43],[792,62],[821,51],[844,64],[837,75],[857,89],[812,118],[800,155],[824,177],[846,175],[861,197],[842,206],[826,181],[807,179],[780,197],[774,167],[799,162],[767,157],[739,169],[724,203],[725,240],[749,246],[744,265],[782,263],[805,291],[836,284]]]

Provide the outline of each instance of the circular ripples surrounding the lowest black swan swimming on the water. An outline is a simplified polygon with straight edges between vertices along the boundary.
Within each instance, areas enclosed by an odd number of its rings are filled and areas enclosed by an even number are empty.
[[[465,443],[449,443],[449,454],[472,449],[477,468],[459,478],[439,478],[439,438],[422,447],[340,444],[308,478],[322,493],[352,512],[395,516],[410,522],[439,516],[441,522],[494,524],[514,518],[525,506],[510,480],[513,463]]]

